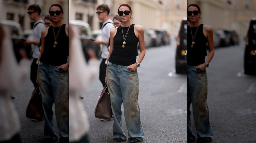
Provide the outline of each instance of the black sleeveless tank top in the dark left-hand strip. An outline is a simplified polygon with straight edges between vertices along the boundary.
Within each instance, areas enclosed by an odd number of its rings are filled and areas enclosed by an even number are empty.
[[[57,38],[58,43],[55,48],[53,47],[55,41],[53,29],[55,36],[57,36],[59,27],[49,27],[48,33],[45,37],[44,52],[40,58],[42,63],[52,66],[60,66],[67,63],[69,56],[69,38],[65,32],[65,26],[66,24],[61,25],[59,36]]]

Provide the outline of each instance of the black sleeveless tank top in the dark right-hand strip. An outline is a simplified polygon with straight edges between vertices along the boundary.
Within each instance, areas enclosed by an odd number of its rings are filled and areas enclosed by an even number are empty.
[[[195,35],[197,27],[188,26],[187,29],[187,64],[190,66],[198,66],[203,64],[205,61],[206,52],[206,43],[208,42],[207,38],[203,35],[203,24],[200,24],[198,27],[197,35],[194,39],[194,47],[191,47],[192,44],[192,35]]]

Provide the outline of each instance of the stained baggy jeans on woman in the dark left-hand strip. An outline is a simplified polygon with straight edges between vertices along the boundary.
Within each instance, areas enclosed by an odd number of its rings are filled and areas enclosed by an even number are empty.
[[[58,139],[53,126],[53,103],[59,128],[59,138],[69,137],[69,72],[58,66],[39,63],[38,83],[42,95],[45,124],[44,137]]]

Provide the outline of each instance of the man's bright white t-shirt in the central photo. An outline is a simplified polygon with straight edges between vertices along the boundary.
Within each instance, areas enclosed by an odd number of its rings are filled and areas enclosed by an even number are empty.
[[[111,22],[111,23],[108,23],[108,22]],[[108,23],[108,24],[106,24]],[[104,26],[104,24],[106,24]],[[103,27],[104,26],[104,27]],[[103,27],[103,28],[102,28]],[[115,28],[114,24],[113,24],[113,21],[111,19],[105,21],[103,24],[102,24],[102,27],[101,27],[101,35],[102,35],[102,41],[109,41],[109,37],[110,37],[110,31]],[[108,44],[102,44],[102,53],[101,53],[101,57],[102,58],[108,58]]]

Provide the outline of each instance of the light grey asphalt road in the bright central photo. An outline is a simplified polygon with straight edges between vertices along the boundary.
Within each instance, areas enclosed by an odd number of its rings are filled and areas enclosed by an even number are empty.
[[[138,102],[145,131],[144,143],[187,142],[187,77],[186,74],[175,74],[175,48],[173,43],[146,49],[138,68]],[[99,80],[95,79],[90,89],[81,94],[91,126],[90,140],[91,143],[115,143],[113,120],[101,121],[94,117],[102,88]],[[122,121],[128,135],[123,115]]]

